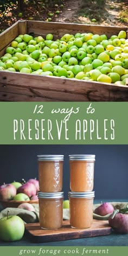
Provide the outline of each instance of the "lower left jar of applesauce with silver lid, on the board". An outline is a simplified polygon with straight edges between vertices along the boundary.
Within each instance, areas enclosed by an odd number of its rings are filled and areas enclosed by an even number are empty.
[[[63,220],[63,192],[38,193],[39,219],[43,229],[57,229]]]

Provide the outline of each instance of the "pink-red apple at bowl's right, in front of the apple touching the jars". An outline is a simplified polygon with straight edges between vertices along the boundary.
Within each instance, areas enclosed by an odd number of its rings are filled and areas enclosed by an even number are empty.
[[[36,187],[33,183],[26,182],[20,188],[17,189],[17,194],[18,193],[24,193],[24,194],[28,195],[29,197],[35,196],[36,195]]]

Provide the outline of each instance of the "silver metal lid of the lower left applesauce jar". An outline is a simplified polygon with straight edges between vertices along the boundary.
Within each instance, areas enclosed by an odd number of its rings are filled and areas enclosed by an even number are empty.
[[[38,192],[38,197],[42,199],[60,199],[64,197],[63,192],[49,192],[49,193],[44,193],[44,192]]]

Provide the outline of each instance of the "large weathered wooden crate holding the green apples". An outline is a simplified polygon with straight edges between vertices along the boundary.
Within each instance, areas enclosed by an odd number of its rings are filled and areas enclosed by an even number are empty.
[[[118,35],[120,30],[127,32],[127,27],[18,21],[0,35],[0,56],[4,55],[5,48],[20,34],[34,33],[35,36],[45,36],[52,33],[57,39],[66,33],[92,32],[111,37]],[[1,71],[0,101],[128,101],[128,87]]]

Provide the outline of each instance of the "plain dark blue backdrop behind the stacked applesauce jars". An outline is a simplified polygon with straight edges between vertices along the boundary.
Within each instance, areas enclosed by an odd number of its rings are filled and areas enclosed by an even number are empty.
[[[128,198],[128,145],[0,145],[0,185],[37,177],[37,155],[65,155],[63,191],[69,191],[70,154],[94,154],[95,199]]]

